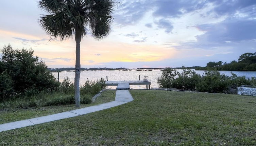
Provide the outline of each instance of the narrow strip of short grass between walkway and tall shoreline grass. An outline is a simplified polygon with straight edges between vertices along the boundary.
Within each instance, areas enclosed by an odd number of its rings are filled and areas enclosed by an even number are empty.
[[[95,103],[91,104],[81,104],[84,108],[88,106],[93,106],[109,101],[115,100],[115,90],[105,90],[102,92],[101,96],[96,98]],[[4,109],[0,110],[0,124],[14,122],[19,120],[25,120],[27,118],[33,118],[38,116],[50,115],[59,112],[65,112],[69,110],[77,109],[74,104],[71,105],[58,105],[58,106],[46,106],[46,107],[29,107],[26,109]]]

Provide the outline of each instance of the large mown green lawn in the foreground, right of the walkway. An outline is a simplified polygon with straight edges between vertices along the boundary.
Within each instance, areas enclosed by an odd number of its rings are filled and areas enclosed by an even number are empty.
[[[3,131],[0,145],[256,145],[256,98],[130,90],[134,101]]]

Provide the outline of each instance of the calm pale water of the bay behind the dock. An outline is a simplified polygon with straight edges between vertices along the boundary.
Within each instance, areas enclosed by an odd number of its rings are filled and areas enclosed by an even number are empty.
[[[193,69],[194,70],[194,69]],[[181,71],[179,71],[181,72]],[[204,71],[195,71],[198,74],[203,75]],[[220,71],[220,73],[224,73],[228,76],[230,76],[231,71]],[[256,77],[256,71],[232,71],[238,76],[246,76],[247,78]],[[58,73],[52,73],[57,78]],[[115,70],[115,71],[83,71],[80,75],[80,85],[84,84],[85,81],[88,80],[98,80],[101,77],[103,77],[106,80],[106,76],[108,76],[108,80],[143,80],[143,76],[148,76],[149,81],[151,81],[151,88],[158,88],[158,84],[156,81],[156,78],[160,77],[162,74],[162,71],[160,70],[152,70],[152,71],[122,71],[122,70]],[[75,73],[74,72],[62,72],[59,73],[59,81],[63,81],[64,77],[68,76],[71,81],[74,81]],[[111,87],[112,89],[115,89],[115,86]],[[146,88],[146,85],[136,85],[131,86],[133,89],[144,89]]]

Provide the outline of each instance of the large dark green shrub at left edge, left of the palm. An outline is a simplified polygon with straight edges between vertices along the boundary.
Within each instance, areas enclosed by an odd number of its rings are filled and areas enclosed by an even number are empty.
[[[37,56],[34,57],[33,50],[13,50],[9,44],[4,46],[1,52],[0,74],[7,74],[1,77],[7,77],[10,82],[9,85],[6,84],[7,91],[0,90],[0,94],[6,96],[5,99],[13,95],[9,94],[12,91],[15,95],[35,94],[43,90],[53,91],[59,86],[56,78],[47,70],[45,63],[42,60],[39,61]],[[6,92],[8,94],[5,94]]]

